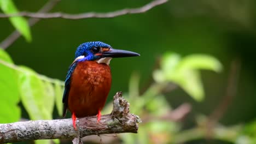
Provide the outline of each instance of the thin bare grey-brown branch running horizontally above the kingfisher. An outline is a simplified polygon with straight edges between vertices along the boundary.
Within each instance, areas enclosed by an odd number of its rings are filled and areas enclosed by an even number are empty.
[[[82,14],[66,14],[66,13],[30,13],[30,12],[21,12],[18,14],[0,14],[0,17],[14,17],[14,16],[26,16],[26,17],[34,17],[39,19],[50,19],[50,18],[62,18],[62,19],[72,19],[72,20],[78,20],[78,19],[88,19],[92,17],[97,18],[109,18],[109,17],[117,17],[120,15],[126,15],[126,14],[138,14],[138,13],[144,13],[157,5],[166,3],[168,0],[155,0],[153,2],[150,2],[143,7],[140,8],[134,8],[134,9],[121,9],[109,13],[82,13]]]

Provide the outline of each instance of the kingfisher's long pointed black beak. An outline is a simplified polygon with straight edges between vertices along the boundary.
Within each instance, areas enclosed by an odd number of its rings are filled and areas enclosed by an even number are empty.
[[[109,51],[102,52],[102,56],[103,57],[136,57],[140,55],[132,51],[117,50],[117,49],[111,48]]]

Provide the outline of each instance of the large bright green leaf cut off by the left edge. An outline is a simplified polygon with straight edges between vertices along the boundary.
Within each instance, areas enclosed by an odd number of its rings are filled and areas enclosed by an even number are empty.
[[[19,121],[21,117],[18,81],[15,70],[3,65],[13,61],[8,53],[0,49],[0,123],[11,123]],[[10,113],[11,111],[11,113]]]

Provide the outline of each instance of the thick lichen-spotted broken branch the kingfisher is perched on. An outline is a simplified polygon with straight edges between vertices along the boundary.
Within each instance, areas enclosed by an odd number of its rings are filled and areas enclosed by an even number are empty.
[[[78,131],[72,125],[72,119],[48,121],[27,121],[0,124],[0,143],[41,139],[74,139],[88,135],[137,133],[138,116],[129,113],[129,103],[121,92],[114,96],[113,111],[103,115],[97,123],[96,116],[77,119]]]

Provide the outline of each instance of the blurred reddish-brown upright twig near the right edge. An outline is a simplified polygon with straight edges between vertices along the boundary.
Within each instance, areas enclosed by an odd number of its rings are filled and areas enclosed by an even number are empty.
[[[216,109],[208,117],[208,122],[207,122],[208,137],[211,137],[212,128],[214,127],[214,125],[216,125],[219,119],[223,117],[224,113],[228,109],[228,106],[231,104],[232,99],[236,95],[240,67],[241,67],[240,61],[238,60],[232,61],[230,65],[230,74],[229,74],[228,86],[226,87],[225,95],[222,101],[220,101],[219,105],[216,107]]]

